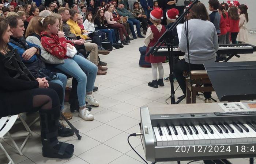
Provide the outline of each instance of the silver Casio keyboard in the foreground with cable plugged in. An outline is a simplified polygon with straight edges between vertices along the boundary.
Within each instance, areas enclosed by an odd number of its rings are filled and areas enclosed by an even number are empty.
[[[256,102],[140,108],[148,161],[256,157]]]

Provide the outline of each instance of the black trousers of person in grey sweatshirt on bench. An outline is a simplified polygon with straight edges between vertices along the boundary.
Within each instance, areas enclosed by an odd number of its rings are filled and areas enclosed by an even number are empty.
[[[190,64],[191,70],[205,70],[204,65]],[[188,63],[185,59],[181,59],[174,67],[175,77],[180,85],[182,92],[186,95],[186,78],[183,76],[184,71],[189,71]],[[211,84],[204,84],[204,86],[211,86]],[[204,92],[205,98],[211,97],[211,92]]]

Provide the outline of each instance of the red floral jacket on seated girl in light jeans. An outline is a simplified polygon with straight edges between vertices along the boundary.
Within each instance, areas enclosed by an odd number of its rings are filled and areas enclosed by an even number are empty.
[[[67,43],[70,43],[74,46],[71,41],[66,40],[65,38],[59,38],[58,35],[50,34],[49,32],[41,32],[41,44],[44,49],[59,59],[67,59]]]

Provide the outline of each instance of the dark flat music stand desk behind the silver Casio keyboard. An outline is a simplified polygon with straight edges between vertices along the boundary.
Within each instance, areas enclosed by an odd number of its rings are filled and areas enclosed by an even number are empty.
[[[256,61],[205,63],[219,101],[256,99]]]

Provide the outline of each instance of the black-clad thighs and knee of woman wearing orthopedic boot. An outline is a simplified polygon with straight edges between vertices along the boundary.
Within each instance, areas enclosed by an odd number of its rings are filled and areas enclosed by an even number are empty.
[[[5,92],[0,97],[0,117],[4,117],[55,108],[62,102],[63,89],[59,84],[49,83],[49,88]]]

